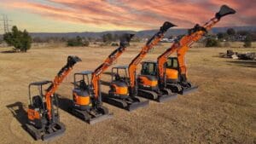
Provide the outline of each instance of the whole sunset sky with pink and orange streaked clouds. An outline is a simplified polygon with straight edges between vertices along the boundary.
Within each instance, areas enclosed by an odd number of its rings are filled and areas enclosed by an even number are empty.
[[[223,4],[237,13],[225,17],[218,26],[256,26],[254,0],[0,0],[0,3],[0,14],[7,14],[11,25],[28,32],[139,31],[156,29],[166,20],[180,28],[192,27],[211,19]],[[2,28],[3,21],[0,22]]]

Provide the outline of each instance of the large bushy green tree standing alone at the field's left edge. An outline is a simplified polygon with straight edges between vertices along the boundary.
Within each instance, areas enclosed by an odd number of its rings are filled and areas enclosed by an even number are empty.
[[[17,26],[13,26],[12,32],[7,32],[3,35],[3,40],[10,46],[14,46],[15,50],[26,52],[31,48],[32,37],[24,30],[21,32]]]

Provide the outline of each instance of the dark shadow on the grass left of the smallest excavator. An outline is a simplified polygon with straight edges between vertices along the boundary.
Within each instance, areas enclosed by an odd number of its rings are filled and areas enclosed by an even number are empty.
[[[26,110],[24,109],[24,105],[18,101],[13,104],[6,106],[10,112],[12,112],[13,116],[18,120],[18,122],[21,124],[21,127],[26,130],[25,124],[27,121],[26,117]]]

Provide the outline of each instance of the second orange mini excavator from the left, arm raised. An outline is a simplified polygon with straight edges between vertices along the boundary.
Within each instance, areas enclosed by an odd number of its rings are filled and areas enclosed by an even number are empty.
[[[73,89],[73,115],[83,119],[89,124],[95,124],[102,120],[112,118],[108,108],[102,106],[102,94],[100,89],[100,78],[102,72],[125,52],[133,34],[124,34],[120,37],[119,48],[108,55],[108,58],[98,66],[94,72],[84,71],[74,74]]]

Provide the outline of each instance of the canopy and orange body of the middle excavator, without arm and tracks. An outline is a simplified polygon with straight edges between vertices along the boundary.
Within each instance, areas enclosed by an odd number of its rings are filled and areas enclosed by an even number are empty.
[[[119,96],[127,98],[129,96],[128,86],[128,66],[115,66],[112,68],[112,79],[110,84],[109,96]]]

